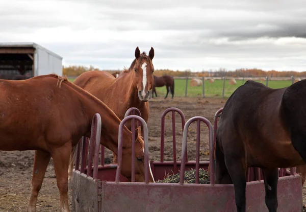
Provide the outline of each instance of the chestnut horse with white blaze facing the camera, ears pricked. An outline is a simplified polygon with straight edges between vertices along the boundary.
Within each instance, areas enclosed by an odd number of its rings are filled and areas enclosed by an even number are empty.
[[[136,107],[140,110],[145,122],[149,118],[150,89],[154,84],[153,72],[154,49],[149,55],[140,54],[138,47],[135,50],[135,59],[129,69],[114,79],[108,72],[91,70],[81,74],[74,80],[74,84],[87,90],[92,95],[103,101],[120,120],[124,119],[126,110]],[[131,123],[126,123],[131,130]],[[117,161],[114,155],[114,162]]]

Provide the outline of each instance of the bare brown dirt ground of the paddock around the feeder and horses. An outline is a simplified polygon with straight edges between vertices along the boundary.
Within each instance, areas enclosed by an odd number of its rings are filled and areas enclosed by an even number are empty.
[[[202,98],[174,98],[164,100],[158,97],[150,100],[149,130],[149,154],[150,160],[160,159],[161,115],[165,109],[176,107],[183,111],[186,121],[193,116],[206,117],[213,125],[214,114],[223,107],[226,99],[202,99]],[[172,146],[172,122],[171,112],[165,119],[165,156],[164,160],[173,159]],[[181,118],[176,113],[176,157],[181,159],[182,148],[182,124]],[[196,123],[193,123],[188,131],[188,159],[195,160],[196,149]],[[201,123],[200,133],[200,159],[209,159],[208,129]],[[107,151],[106,160],[112,158]],[[33,169],[34,151],[0,151],[0,212],[25,211],[31,192],[31,177]],[[69,203],[71,209],[71,188],[69,184]],[[306,196],[306,186],[303,187],[303,197]],[[305,204],[305,200],[303,201]],[[43,185],[37,200],[37,211],[59,211],[59,193],[51,159],[47,168]]]

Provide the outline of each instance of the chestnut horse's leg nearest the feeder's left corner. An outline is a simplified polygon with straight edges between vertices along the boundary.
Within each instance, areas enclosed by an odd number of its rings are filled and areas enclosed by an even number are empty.
[[[60,193],[60,211],[69,212],[68,206],[68,166],[71,152],[71,143],[53,149],[52,158],[56,174],[57,186]]]

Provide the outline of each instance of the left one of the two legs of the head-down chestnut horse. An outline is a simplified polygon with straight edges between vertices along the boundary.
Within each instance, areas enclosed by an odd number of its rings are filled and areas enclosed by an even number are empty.
[[[28,203],[27,212],[36,211],[37,196],[41,189],[43,178],[48,167],[51,155],[40,150],[35,151],[34,167],[32,174],[32,189],[31,196]]]

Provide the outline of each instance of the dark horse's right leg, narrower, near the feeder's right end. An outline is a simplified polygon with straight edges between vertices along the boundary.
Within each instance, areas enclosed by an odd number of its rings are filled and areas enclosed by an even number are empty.
[[[262,168],[265,190],[266,190],[266,205],[269,212],[276,212],[277,210],[277,182],[278,182],[278,168]]]

